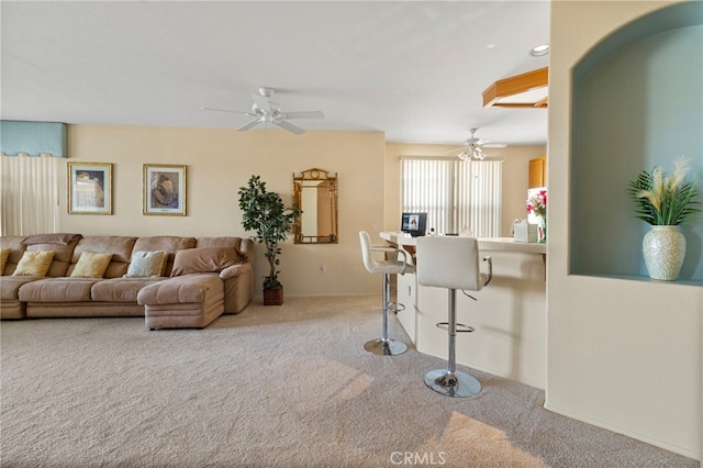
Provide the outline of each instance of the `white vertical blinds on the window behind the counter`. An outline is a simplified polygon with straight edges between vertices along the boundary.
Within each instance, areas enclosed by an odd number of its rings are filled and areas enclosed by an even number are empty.
[[[500,236],[502,168],[501,161],[403,157],[402,211],[426,212],[427,230],[437,233]]]

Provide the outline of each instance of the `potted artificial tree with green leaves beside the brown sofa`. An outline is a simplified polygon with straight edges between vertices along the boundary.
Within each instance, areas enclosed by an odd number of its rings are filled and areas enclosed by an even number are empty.
[[[266,182],[259,176],[252,176],[246,187],[239,188],[239,209],[245,231],[254,231],[254,239],[266,246],[264,255],[268,260],[269,274],[264,277],[264,305],[283,303],[283,285],[278,280],[276,267],[280,260],[279,242],[288,238],[293,223],[300,216],[298,208],[286,208],[281,197],[266,190]]]

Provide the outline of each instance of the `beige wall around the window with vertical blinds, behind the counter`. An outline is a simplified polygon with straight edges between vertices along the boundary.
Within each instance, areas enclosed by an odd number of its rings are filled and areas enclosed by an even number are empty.
[[[529,112],[529,111],[527,111]],[[534,112],[543,112],[535,110]],[[456,145],[421,145],[389,143],[386,145],[386,218],[383,231],[398,231],[400,227],[400,157],[401,156],[446,156]],[[509,146],[490,148],[491,157],[502,158],[503,163],[503,211],[501,214],[501,235],[507,236],[515,218],[526,218],[525,200],[529,174],[529,159],[546,154],[545,146]]]

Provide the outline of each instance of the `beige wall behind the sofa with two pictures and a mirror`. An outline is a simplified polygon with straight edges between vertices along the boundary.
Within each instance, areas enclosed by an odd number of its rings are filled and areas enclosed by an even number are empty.
[[[361,265],[358,232],[382,224],[384,145],[382,132],[297,136],[280,130],[69,125],[69,161],[114,165],[114,214],[67,214],[63,190],[59,230],[86,235],[248,236],[241,224],[237,191],[249,176],[261,176],[267,188],[290,204],[293,172],[316,167],[338,174],[339,244],[293,245],[291,236],[280,257],[286,294],[376,293],[377,278]],[[142,214],[145,163],[188,166],[187,216]],[[260,249],[256,268],[260,282],[266,271]]]

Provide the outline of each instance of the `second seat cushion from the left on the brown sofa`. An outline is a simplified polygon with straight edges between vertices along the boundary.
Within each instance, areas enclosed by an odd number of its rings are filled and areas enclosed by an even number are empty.
[[[20,287],[23,302],[90,302],[90,290],[99,278],[45,278]]]

